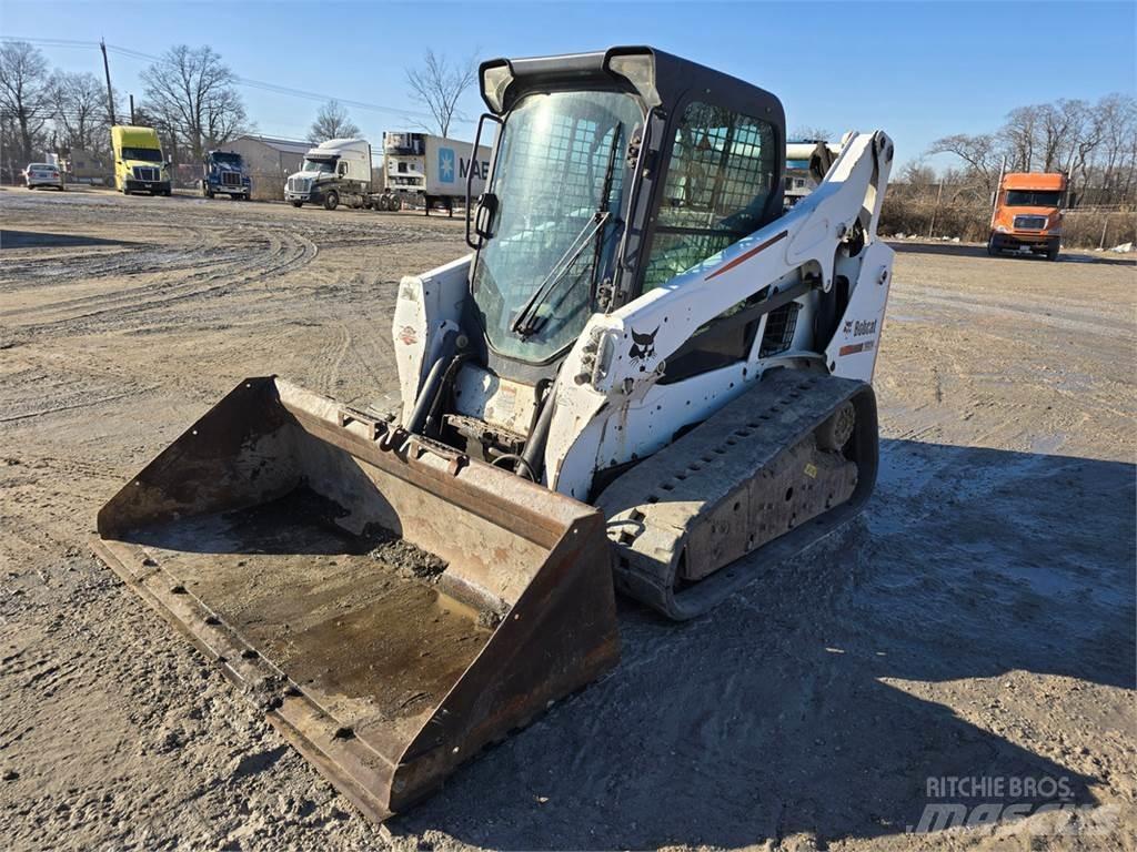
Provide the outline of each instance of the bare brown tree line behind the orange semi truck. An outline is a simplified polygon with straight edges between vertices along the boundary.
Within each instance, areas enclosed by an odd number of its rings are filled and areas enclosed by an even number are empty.
[[[1018,107],[988,133],[957,133],[932,143],[929,154],[949,153],[960,166],[944,175],[910,164],[901,183],[951,187],[949,200],[987,199],[1007,172],[1068,172],[1071,200],[1081,206],[1132,206],[1137,201],[1137,99],[1113,93],[1096,103],[1062,98]]]

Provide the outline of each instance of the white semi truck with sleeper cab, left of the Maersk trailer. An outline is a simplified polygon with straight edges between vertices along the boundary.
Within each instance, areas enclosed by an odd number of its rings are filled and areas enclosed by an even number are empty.
[[[284,200],[293,207],[313,203],[334,210],[341,201],[365,207],[371,193],[371,144],[365,139],[321,142],[284,184]]]

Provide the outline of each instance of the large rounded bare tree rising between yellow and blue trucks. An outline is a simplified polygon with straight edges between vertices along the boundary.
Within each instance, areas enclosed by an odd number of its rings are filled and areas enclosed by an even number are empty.
[[[246,122],[236,76],[211,48],[173,47],[142,72],[142,82],[151,111],[169,117],[194,159],[238,135]]]

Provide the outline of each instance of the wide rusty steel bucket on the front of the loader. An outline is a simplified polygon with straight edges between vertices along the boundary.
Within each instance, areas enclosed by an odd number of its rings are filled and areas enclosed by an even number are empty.
[[[98,526],[98,556],[375,820],[619,658],[595,509],[276,378]]]

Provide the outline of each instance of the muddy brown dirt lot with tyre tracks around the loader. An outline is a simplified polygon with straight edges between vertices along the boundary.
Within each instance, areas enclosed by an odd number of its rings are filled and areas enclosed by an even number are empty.
[[[622,603],[614,673],[380,829],[86,542],[242,377],[392,389],[459,222],[5,190],[0,226],[5,847],[1137,849],[1132,261],[899,245],[856,528],[689,624]],[[920,830],[990,801],[1080,810]]]

